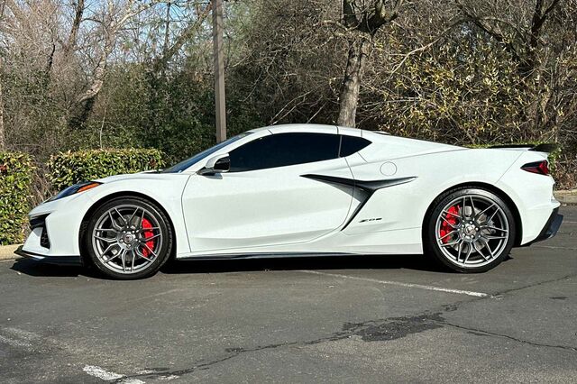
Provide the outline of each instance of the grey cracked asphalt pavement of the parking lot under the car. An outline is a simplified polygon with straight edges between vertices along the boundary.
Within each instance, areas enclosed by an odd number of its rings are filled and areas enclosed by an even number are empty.
[[[0,261],[0,382],[577,382],[577,206],[495,270],[423,256]]]

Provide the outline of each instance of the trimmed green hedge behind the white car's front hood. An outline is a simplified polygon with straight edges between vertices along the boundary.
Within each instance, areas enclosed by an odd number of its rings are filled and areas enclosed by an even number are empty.
[[[81,181],[164,167],[164,155],[158,150],[90,150],[60,152],[50,157],[49,179],[57,190]]]

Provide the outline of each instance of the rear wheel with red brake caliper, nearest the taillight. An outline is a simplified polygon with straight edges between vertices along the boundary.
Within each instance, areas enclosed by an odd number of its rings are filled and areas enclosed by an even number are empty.
[[[463,197],[465,203],[459,205]],[[491,204],[494,206],[489,207]],[[463,273],[485,272],[499,265],[513,248],[515,216],[490,190],[457,187],[437,197],[431,207],[423,224],[424,250],[444,267]]]

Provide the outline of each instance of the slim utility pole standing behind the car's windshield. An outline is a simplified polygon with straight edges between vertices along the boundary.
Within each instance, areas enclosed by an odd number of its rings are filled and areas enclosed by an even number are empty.
[[[216,142],[226,140],[224,97],[223,1],[213,0],[213,55],[215,60]]]

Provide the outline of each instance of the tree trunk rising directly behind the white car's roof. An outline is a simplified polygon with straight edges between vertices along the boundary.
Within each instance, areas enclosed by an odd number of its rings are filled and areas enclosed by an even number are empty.
[[[371,39],[367,36],[355,36],[349,41],[349,54],[344,71],[343,87],[339,96],[339,118],[337,124],[346,127],[355,126],[359,91]]]

